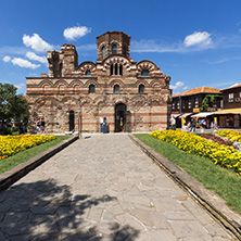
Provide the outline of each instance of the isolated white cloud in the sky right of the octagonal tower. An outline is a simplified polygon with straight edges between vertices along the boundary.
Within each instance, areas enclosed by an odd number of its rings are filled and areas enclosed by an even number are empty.
[[[186,47],[201,46],[206,47],[212,43],[211,34],[207,31],[194,31],[192,35],[188,35],[183,41]]]

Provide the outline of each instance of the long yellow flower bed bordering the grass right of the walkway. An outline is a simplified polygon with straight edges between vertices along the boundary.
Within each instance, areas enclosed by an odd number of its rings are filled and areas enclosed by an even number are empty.
[[[241,153],[232,145],[219,144],[181,130],[155,130],[150,136],[172,143],[185,152],[208,157],[216,165],[233,169],[241,175]]]

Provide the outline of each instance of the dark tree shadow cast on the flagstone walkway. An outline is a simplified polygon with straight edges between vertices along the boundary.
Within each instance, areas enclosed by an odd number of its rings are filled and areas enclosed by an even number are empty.
[[[66,185],[54,180],[15,185],[0,192],[0,240],[13,241],[134,241],[139,231],[116,221],[91,223],[87,216],[101,211],[114,196],[74,195]],[[94,225],[96,224],[96,225]],[[107,228],[106,228],[107,227]],[[101,234],[102,233],[102,234]]]

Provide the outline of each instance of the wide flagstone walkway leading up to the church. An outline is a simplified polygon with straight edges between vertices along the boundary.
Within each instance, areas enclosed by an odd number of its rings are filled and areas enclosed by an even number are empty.
[[[92,135],[0,192],[0,240],[232,238],[127,135]]]

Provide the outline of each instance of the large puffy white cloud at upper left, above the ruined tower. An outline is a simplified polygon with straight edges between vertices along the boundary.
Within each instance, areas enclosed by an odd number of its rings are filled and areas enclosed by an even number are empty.
[[[28,35],[24,35],[23,42],[26,47],[30,47],[31,49],[39,52],[45,52],[53,49],[53,46],[41,39],[38,34],[34,34],[31,37]]]

